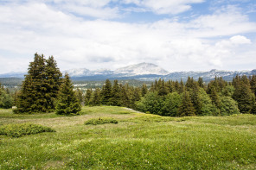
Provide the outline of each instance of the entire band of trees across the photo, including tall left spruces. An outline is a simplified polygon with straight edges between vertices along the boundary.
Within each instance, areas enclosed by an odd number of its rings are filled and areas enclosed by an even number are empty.
[[[0,88],[0,107],[15,105],[15,113],[52,112],[78,114],[81,105],[124,106],[161,116],[227,116],[256,114],[256,76],[221,77],[205,84],[202,78],[185,82],[155,80],[151,85],[129,85],[106,79],[101,88],[74,90],[72,80],[62,74],[54,57],[35,54],[19,91]]]

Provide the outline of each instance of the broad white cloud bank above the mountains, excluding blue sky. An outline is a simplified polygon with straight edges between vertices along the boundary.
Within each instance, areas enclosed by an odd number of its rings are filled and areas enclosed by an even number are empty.
[[[245,35],[255,33],[255,22],[233,9],[191,22],[125,23],[86,21],[45,3],[24,3],[0,6],[0,16],[2,73],[28,66],[35,52],[54,55],[61,70],[113,69],[144,61],[169,71],[228,69],[242,59],[256,64],[255,41]],[[10,63],[3,51],[21,57]]]

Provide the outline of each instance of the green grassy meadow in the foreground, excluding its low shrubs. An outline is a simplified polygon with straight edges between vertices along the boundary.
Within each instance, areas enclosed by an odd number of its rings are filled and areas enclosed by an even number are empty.
[[[86,125],[112,117],[117,124]],[[83,107],[81,116],[14,115],[0,126],[55,129],[0,135],[0,169],[256,169],[256,116],[163,117],[120,107]]]

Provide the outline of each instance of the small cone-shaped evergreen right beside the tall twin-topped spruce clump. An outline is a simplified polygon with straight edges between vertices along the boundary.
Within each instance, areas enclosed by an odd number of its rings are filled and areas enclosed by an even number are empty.
[[[74,85],[69,79],[68,74],[65,74],[65,79],[61,85],[61,90],[56,106],[57,115],[77,115],[81,110],[81,104],[74,92]]]

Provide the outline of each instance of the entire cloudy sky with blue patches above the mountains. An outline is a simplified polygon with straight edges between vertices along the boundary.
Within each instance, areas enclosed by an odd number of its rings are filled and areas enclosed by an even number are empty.
[[[0,0],[0,73],[26,72],[36,52],[61,71],[252,70],[256,1]]]

